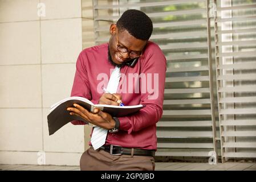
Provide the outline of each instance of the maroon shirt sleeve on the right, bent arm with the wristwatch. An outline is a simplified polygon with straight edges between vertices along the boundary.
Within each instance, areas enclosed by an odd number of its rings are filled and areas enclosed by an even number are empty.
[[[145,83],[141,84],[140,104],[146,106],[136,114],[127,117],[119,117],[120,130],[128,131],[128,134],[155,125],[162,117],[166,59],[158,46],[156,50],[145,53],[144,56],[145,58],[143,59],[143,57],[141,57],[140,60],[141,74],[144,74],[147,78],[147,89],[145,89]],[[151,84],[149,84],[149,82],[151,82]],[[143,89],[146,90],[144,93],[142,92]]]

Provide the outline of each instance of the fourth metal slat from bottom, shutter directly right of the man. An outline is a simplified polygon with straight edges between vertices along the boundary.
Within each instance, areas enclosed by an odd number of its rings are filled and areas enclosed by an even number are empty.
[[[212,121],[159,121],[157,127],[204,127],[212,126]]]

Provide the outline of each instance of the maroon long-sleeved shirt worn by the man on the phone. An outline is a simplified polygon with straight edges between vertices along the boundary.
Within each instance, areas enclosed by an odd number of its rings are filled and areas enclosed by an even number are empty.
[[[85,97],[97,104],[104,92],[102,87],[107,88],[113,69],[115,66],[108,61],[108,43],[84,49],[76,62],[71,96]],[[108,133],[106,145],[156,150],[156,123],[162,116],[165,72],[165,56],[153,42],[148,42],[135,67],[125,65],[120,69],[117,93],[121,94],[123,104],[146,106],[135,114],[119,117],[120,130],[114,134]],[[85,124],[82,121],[72,123]]]

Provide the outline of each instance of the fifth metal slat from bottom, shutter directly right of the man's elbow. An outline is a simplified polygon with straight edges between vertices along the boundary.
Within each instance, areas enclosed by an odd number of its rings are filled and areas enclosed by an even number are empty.
[[[163,117],[168,115],[209,115],[211,114],[210,109],[201,109],[201,110],[163,110]]]

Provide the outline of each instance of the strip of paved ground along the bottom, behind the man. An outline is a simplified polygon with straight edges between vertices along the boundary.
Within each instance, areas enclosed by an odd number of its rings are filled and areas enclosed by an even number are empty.
[[[0,164],[0,170],[12,171],[79,171],[79,166],[36,166]],[[256,171],[256,163],[156,163],[156,171]]]

